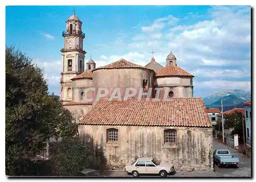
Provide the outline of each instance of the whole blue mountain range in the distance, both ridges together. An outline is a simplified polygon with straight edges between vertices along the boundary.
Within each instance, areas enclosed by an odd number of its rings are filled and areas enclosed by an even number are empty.
[[[223,90],[203,98],[205,107],[219,108],[221,110],[221,99],[223,101],[223,111],[233,108],[244,108],[243,103],[251,100],[251,92],[245,90]]]

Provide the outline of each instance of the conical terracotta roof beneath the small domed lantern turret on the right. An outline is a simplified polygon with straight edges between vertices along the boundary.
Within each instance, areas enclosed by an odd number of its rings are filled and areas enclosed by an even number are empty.
[[[164,66],[160,71],[156,73],[157,77],[166,77],[166,76],[190,76],[195,77],[192,74],[184,71],[179,66],[167,65]]]

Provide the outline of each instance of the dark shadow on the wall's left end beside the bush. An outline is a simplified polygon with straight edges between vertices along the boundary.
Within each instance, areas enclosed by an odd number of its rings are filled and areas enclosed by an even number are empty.
[[[94,144],[93,137],[88,134],[83,134],[82,137],[82,143],[83,145],[86,145],[89,147],[89,149],[93,153],[93,161],[91,162],[91,165],[89,168],[97,169],[97,170],[105,170],[108,169],[108,164],[104,155],[103,150],[103,136],[101,136],[101,142],[100,144]]]

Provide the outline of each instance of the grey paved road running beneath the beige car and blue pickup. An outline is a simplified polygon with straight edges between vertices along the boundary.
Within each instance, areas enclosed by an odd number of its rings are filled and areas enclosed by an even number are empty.
[[[174,175],[168,175],[168,177],[250,177],[251,176],[251,160],[250,158],[244,157],[242,154],[238,153],[235,149],[217,142],[214,139],[214,150],[215,149],[228,149],[231,154],[239,158],[240,164],[239,168],[219,168],[214,165],[214,172],[176,172]],[[104,176],[111,177],[133,177],[128,175],[125,171],[106,171],[101,172]],[[158,175],[143,175],[140,177],[160,177]]]

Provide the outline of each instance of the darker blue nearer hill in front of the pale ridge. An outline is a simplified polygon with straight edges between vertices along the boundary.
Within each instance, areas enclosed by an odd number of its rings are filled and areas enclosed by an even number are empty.
[[[205,105],[205,107],[219,108],[221,111],[221,99],[223,100],[223,111],[228,111],[234,108],[244,108],[243,103],[245,100],[234,95],[224,96],[211,105]]]

